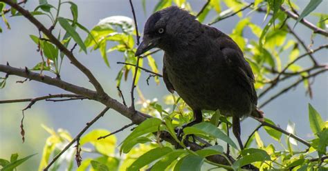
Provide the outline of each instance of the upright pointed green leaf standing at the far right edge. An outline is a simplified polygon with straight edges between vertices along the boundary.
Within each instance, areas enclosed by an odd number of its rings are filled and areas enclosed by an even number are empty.
[[[314,134],[320,132],[324,127],[325,123],[322,121],[320,114],[313,108],[313,106],[309,103],[309,121],[310,127]]]

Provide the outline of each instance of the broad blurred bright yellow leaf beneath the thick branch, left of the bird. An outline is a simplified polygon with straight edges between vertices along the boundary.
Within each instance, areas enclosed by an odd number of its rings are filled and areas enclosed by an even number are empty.
[[[104,155],[112,155],[115,152],[116,148],[116,137],[115,136],[110,136],[107,137],[106,139],[99,139],[98,137],[110,134],[111,132],[107,130],[92,130],[88,134],[84,135],[80,139],[80,144],[84,145],[86,143],[91,143],[92,145],[95,146],[95,150],[100,152],[101,154]]]

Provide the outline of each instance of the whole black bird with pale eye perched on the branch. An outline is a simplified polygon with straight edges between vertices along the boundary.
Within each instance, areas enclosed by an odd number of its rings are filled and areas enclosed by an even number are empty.
[[[152,14],[145,23],[136,57],[152,48],[164,50],[163,79],[192,108],[194,121],[201,110],[219,110],[233,117],[233,133],[239,146],[241,117],[263,117],[257,110],[254,75],[242,50],[217,28],[201,24],[176,6]]]

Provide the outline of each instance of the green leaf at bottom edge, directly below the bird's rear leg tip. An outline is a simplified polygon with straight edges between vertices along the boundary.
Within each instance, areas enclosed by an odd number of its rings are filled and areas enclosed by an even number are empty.
[[[242,150],[242,158],[238,159],[233,163],[233,168],[241,168],[242,166],[253,163],[255,161],[270,161],[271,157],[264,150],[260,150],[257,148],[248,148]]]

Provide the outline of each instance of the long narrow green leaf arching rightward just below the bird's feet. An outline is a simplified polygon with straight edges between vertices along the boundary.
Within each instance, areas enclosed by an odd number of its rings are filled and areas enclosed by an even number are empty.
[[[237,145],[233,142],[233,140],[230,139],[224,132],[219,130],[215,125],[212,125],[208,122],[202,122],[197,123],[196,125],[192,125],[191,127],[187,127],[183,129],[183,132],[185,135],[188,134],[203,134],[203,135],[210,135],[212,137],[215,137],[217,139],[221,139],[222,141],[225,141],[229,145],[231,145],[233,148],[237,149]]]

